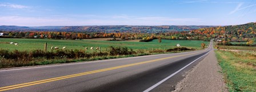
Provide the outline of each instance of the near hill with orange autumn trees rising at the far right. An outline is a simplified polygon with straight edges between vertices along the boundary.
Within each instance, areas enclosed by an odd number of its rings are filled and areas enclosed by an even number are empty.
[[[199,28],[191,31],[190,35],[193,34],[216,37],[222,40],[224,40],[223,37],[226,36],[226,41],[249,41],[250,39],[256,41],[256,23],[252,22],[235,26]]]

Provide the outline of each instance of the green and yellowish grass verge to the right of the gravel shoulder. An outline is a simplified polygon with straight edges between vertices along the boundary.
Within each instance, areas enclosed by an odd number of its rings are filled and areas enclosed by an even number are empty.
[[[255,52],[215,51],[229,91],[256,91]]]

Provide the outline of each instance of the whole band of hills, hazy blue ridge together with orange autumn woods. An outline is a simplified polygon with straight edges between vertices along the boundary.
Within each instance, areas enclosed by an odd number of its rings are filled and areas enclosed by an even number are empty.
[[[17,38],[48,38],[48,39],[91,39],[91,38],[120,38],[122,40],[153,40],[157,38],[172,40],[221,40],[227,42],[256,42],[256,23],[237,26],[46,26],[46,27],[17,27],[2,26],[7,30],[0,37]],[[15,29],[17,28],[17,29]],[[191,30],[196,29],[197,30]],[[37,29],[38,31],[36,31]],[[16,31],[15,31],[16,30]],[[25,30],[25,31],[17,31]],[[29,31],[34,30],[34,31]],[[190,30],[190,31],[189,31]],[[60,32],[61,31],[61,32]],[[67,32],[69,31],[69,32]],[[106,32],[106,33],[105,33]],[[150,34],[148,34],[150,33]],[[157,34],[155,34],[157,33]],[[225,35],[226,33],[226,35]]]

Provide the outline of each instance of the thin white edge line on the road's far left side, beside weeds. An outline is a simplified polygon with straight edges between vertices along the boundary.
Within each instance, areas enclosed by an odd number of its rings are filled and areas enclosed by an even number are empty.
[[[201,50],[199,50],[201,51]],[[197,51],[190,51],[190,52],[197,52]],[[181,53],[189,53],[189,52],[181,52]],[[96,60],[96,61],[87,61],[87,62],[74,62],[72,64],[61,64],[61,65],[47,65],[47,66],[35,66],[31,68],[18,68],[18,69],[6,69],[6,70],[0,70],[0,72],[6,72],[6,71],[12,71],[12,70],[25,70],[25,69],[36,69],[36,68],[48,68],[53,66],[65,66],[65,65],[77,65],[77,64],[86,64],[86,63],[95,63],[95,62],[105,62],[105,61],[113,61],[113,60],[125,60],[130,58],[139,58],[139,57],[150,57],[150,56],[162,56],[162,55],[172,55],[177,53],[164,53],[159,55],[146,55],[146,56],[136,56],[136,57],[127,57],[127,58],[113,58],[108,60]]]

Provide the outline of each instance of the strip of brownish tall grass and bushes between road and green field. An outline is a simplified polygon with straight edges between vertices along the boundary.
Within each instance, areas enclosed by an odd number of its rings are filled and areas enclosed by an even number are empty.
[[[191,49],[183,49],[183,51],[187,50]],[[102,60],[109,58],[141,56],[165,52],[170,51],[165,51],[162,49],[140,49],[134,51],[133,49],[127,47],[113,46],[108,47],[105,51],[94,52],[88,52],[84,49],[57,49],[47,52],[41,49],[33,51],[9,51],[6,49],[0,49],[0,68]]]

